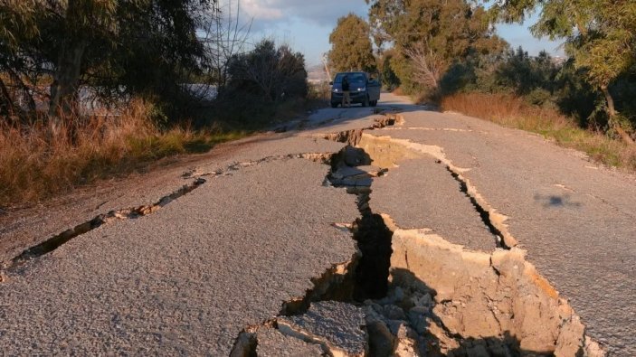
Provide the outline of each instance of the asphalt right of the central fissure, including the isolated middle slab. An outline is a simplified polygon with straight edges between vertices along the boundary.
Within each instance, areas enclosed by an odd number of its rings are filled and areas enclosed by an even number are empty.
[[[508,231],[527,260],[570,301],[587,334],[612,355],[636,355],[636,176],[531,133],[383,96],[405,122],[365,133],[439,146],[489,205],[508,216]],[[324,130],[365,126],[343,120]],[[401,228],[431,229],[468,249],[492,249],[479,212],[432,161],[407,159],[375,179],[371,209]]]

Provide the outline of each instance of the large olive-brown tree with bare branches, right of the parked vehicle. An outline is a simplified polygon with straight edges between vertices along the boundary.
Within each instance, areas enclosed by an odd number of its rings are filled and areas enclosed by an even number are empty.
[[[408,89],[437,89],[453,62],[506,47],[483,7],[465,0],[366,1],[375,42],[394,45],[394,71]]]

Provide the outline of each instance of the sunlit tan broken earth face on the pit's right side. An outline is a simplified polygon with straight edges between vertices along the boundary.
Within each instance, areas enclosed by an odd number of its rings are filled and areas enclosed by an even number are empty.
[[[425,282],[437,293],[432,314],[444,328],[429,324],[428,332],[440,340],[441,352],[455,347],[443,336],[447,332],[462,341],[495,337],[519,351],[575,355],[584,348],[583,324],[527,262],[525,251],[474,252],[418,230],[395,230],[392,243],[394,282],[407,287]],[[423,295],[422,301],[411,298],[421,307],[429,305],[426,300]],[[426,309],[413,307],[408,313],[420,332],[424,326],[419,321],[428,317]],[[484,353],[493,351],[481,345],[467,352],[488,355]]]

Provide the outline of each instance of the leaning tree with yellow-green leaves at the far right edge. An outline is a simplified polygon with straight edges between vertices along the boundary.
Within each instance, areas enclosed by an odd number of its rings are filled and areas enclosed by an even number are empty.
[[[523,0],[498,3],[491,8],[498,19],[521,22],[541,8],[531,30],[536,36],[565,39],[574,65],[584,69],[585,79],[603,93],[609,124],[633,144],[621,125],[610,86],[636,66],[636,3],[631,0]]]

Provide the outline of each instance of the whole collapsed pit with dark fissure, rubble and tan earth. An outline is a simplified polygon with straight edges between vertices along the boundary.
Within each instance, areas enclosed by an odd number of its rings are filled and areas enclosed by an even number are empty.
[[[285,303],[278,317],[245,330],[234,355],[605,354],[568,302],[515,247],[506,217],[440,147],[356,129],[323,137],[347,144],[332,157],[325,183],[357,195],[361,218],[349,228],[361,254],[337,268],[338,274],[331,269],[314,281],[316,288],[295,304]],[[430,228],[401,229],[390,216],[372,211],[372,183],[403,161],[422,158],[445,165],[448,179],[460,183],[457,193],[498,238],[496,249],[467,249]]]

